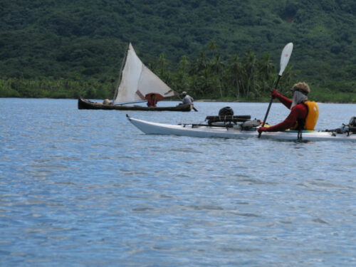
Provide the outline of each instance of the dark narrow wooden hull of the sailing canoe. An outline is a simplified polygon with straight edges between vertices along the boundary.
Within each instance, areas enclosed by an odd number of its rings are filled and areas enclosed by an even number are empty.
[[[193,105],[176,105],[173,107],[145,107],[141,105],[103,105],[83,98],[78,99],[79,110],[146,110],[146,111],[191,111]]]

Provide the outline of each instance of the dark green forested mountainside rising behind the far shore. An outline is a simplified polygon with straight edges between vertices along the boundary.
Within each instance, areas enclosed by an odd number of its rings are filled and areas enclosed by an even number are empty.
[[[338,92],[338,100],[356,101],[355,0],[3,0],[0,16],[0,96],[36,96],[33,84],[110,98],[130,41],[172,88],[221,98],[237,95],[237,82],[226,85],[233,62],[246,69],[247,58],[252,67],[265,58],[276,73],[283,46],[293,42],[286,83],[304,80],[320,100]],[[201,60],[214,72],[194,72]],[[244,96],[268,96],[273,78],[248,82],[251,92],[263,90]]]

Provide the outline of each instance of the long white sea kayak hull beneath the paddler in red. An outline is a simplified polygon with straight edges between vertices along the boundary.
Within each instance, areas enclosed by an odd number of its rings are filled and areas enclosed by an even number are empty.
[[[138,129],[147,135],[179,135],[189,137],[221,137],[221,138],[258,138],[257,130],[239,130],[234,127],[214,127],[203,125],[167,125],[157,122],[147,122],[145,120],[137,120],[127,115],[127,119]],[[273,140],[298,140],[298,131],[287,130],[284,132],[263,132],[261,139]],[[334,132],[318,132],[318,131],[303,131],[303,141],[354,141],[356,142],[356,134],[337,134]]]

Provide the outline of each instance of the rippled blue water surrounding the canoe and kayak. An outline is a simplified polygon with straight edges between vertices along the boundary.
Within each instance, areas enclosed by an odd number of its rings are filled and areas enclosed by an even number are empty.
[[[0,266],[356,266],[354,143],[144,135],[125,118],[196,123],[226,105],[263,119],[268,104],[0,99]],[[318,129],[356,116],[319,108]],[[286,115],[273,103],[268,122]]]

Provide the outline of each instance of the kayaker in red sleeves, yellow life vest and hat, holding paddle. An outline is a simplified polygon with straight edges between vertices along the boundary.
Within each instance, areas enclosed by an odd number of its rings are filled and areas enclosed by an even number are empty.
[[[283,105],[290,109],[290,114],[286,120],[271,127],[260,127],[258,132],[280,132],[288,129],[314,130],[318,121],[319,110],[315,102],[308,101],[309,85],[307,83],[295,83],[290,90],[293,92],[292,100],[278,93],[276,89],[271,91],[273,98],[278,98]]]

